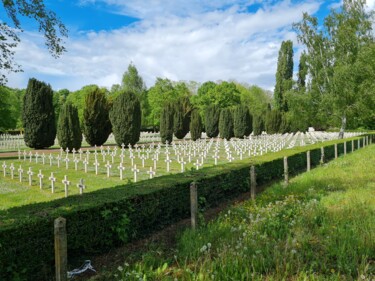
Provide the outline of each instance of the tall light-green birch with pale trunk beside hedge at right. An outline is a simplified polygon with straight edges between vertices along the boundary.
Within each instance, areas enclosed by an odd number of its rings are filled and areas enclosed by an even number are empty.
[[[354,65],[361,49],[374,42],[373,12],[366,12],[365,4],[364,0],[344,0],[339,10],[331,10],[323,26],[307,13],[294,25],[299,42],[307,48],[309,91],[316,112],[330,124],[336,123],[333,118],[339,121],[340,138],[347,118],[355,117],[362,104],[355,91]]]

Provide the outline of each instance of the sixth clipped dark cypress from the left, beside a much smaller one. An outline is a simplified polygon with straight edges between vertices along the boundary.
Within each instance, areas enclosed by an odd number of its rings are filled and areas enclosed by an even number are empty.
[[[191,104],[189,97],[181,97],[174,104],[173,133],[178,139],[183,139],[189,132]]]

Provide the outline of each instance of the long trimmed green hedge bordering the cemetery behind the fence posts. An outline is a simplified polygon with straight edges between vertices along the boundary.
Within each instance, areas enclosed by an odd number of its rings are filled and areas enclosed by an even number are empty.
[[[374,136],[371,136],[374,139]],[[344,153],[343,140],[338,154]],[[347,153],[352,151],[351,140]],[[150,181],[71,196],[51,202],[0,211],[0,280],[51,280],[54,275],[53,221],[67,220],[68,259],[106,251],[139,239],[190,215],[190,183],[198,184],[198,196],[206,206],[234,198],[249,190],[249,167],[256,165],[257,183],[283,177],[283,157],[288,156],[290,175],[306,169],[306,151],[311,167],[319,165],[321,146],[326,161],[333,159],[335,142],[288,149],[255,159],[168,175]],[[355,140],[355,150],[358,141]],[[360,146],[364,140],[360,138]]]

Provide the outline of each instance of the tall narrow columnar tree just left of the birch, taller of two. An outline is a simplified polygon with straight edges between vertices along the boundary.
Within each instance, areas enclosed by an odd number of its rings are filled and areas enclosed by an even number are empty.
[[[277,60],[275,104],[280,111],[288,111],[285,92],[293,86],[293,42],[283,41],[281,43],[279,58]]]

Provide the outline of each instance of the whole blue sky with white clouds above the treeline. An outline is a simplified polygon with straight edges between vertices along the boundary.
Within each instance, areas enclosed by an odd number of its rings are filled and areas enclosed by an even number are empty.
[[[130,63],[146,86],[157,77],[173,81],[236,80],[273,90],[281,42],[294,44],[295,71],[303,50],[292,24],[307,12],[324,18],[340,1],[316,0],[45,0],[69,30],[67,52],[53,58],[37,26],[21,19],[24,32],[15,60],[29,78],[54,90],[120,84]],[[368,0],[373,8],[375,0]],[[4,11],[0,10],[1,20]]]

